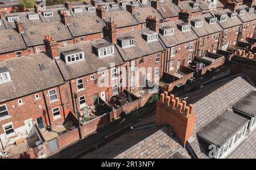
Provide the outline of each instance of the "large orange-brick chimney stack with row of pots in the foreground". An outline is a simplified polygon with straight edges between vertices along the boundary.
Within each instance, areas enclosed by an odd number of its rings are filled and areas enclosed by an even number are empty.
[[[193,135],[196,121],[193,105],[186,104],[186,101],[176,101],[172,94],[166,96],[164,93],[160,94],[160,100],[156,102],[155,124],[170,125],[183,146]]]

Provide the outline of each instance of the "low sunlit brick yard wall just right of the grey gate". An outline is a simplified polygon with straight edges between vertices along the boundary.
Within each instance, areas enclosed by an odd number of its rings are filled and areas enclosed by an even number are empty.
[[[71,131],[66,132],[65,134],[62,134],[57,137],[59,148],[65,147],[68,144],[71,144],[75,140],[79,139],[79,130],[78,128],[75,128]]]

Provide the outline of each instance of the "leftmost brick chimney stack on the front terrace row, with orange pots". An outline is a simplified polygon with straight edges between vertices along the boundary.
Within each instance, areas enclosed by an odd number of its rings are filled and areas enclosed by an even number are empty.
[[[52,60],[55,57],[59,57],[58,44],[51,35],[44,36],[44,45],[46,45],[46,52]]]

